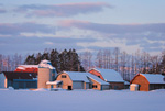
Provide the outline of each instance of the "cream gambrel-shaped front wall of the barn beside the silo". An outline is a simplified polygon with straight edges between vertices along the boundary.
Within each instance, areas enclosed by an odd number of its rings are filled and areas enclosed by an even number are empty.
[[[66,78],[62,78],[62,75],[65,75]],[[62,87],[63,89],[68,89],[68,86],[72,86],[72,88],[73,88],[73,80],[65,73],[58,75],[56,80],[62,80],[63,81],[63,87]]]

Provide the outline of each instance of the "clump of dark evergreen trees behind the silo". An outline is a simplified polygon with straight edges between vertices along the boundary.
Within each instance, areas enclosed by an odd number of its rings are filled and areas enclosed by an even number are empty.
[[[80,60],[76,49],[64,49],[58,52],[57,49],[45,49],[44,53],[32,54],[25,58],[25,65],[37,65],[41,60],[51,60],[52,65],[56,68],[57,73],[63,70],[66,71],[85,71],[84,67],[80,65]]]

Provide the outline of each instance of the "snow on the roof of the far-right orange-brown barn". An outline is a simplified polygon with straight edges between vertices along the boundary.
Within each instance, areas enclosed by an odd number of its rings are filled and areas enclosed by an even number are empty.
[[[165,77],[161,74],[140,74],[143,75],[150,84],[165,84]]]

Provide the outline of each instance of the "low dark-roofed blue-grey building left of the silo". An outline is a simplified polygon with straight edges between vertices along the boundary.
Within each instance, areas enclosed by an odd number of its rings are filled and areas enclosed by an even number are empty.
[[[16,73],[3,71],[6,76],[6,86],[14,89],[37,88],[36,73]]]

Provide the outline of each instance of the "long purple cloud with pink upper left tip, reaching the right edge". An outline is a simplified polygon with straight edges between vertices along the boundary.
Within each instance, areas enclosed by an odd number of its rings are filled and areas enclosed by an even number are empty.
[[[101,24],[87,21],[65,20],[59,21],[64,27],[77,27],[109,34],[131,34],[131,33],[165,33],[165,23],[153,24]]]

